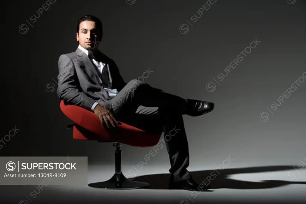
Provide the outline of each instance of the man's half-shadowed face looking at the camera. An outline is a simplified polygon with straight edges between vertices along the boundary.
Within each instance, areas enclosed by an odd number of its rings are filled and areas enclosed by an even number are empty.
[[[95,22],[89,20],[82,21],[79,33],[76,33],[76,40],[86,50],[97,50],[101,41],[101,33],[95,27]]]

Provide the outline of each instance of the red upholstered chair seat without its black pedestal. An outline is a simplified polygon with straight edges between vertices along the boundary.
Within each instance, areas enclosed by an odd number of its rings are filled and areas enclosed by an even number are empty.
[[[162,134],[147,133],[144,130],[122,123],[118,125],[118,133],[110,134],[101,125],[99,117],[95,113],[80,106],[65,105],[60,102],[60,108],[64,115],[77,126],[73,127],[73,138],[84,140],[97,140],[101,142],[118,142],[137,147],[150,147],[158,143]]]

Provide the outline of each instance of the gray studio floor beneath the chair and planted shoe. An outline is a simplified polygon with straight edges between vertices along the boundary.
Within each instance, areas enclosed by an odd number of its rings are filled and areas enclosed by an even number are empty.
[[[304,166],[303,166],[304,167]],[[144,168],[141,173],[133,166],[122,172],[131,180],[150,183],[147,189],[105,190],[84,186],[43,187],[0,186],[2,203],[303,203],[306,192],[305,168],[293,165],[208,166],[209,170],[188,168],[199,183],[215,169],[219,173],[211,181],[212,189],[196,194],[193,191],[169,190],[168,169],[162,166]],[[131,173],[134,169],[135,172]],[[136,173],[137,172],[137,173]],[[216,172],[216,171],[215,171]],[[88,166],[88,183],[109,179],[114,166]],[[138,174],[138,175],[137,175]],[[136,175],[134,178],[133,175]],[[131,177],[132,176],[132,177]],[[36,197],[30,196],[35,190]],[[33,195],[33,194],[32,194]],[[304,198],[304,200],[303,200]]]

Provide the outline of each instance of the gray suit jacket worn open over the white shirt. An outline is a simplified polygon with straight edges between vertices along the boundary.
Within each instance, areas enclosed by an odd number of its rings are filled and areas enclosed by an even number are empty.
[[[99,55],[108,68],[112,88],[121,91],[126,83],[116,63],[100,51]],[[58,71],[57,94],[66,105],[77,105],[91,111],[91,106],[98,102],[110,109],[110,97],[102,87],[100,74],[82,50],[77,48],[75,52],[62,54],[58,59]]]

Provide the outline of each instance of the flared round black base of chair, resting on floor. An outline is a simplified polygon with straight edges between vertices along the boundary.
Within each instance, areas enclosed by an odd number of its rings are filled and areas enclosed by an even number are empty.
[[[127,179],[122,172],[115,173],[114,176],[112,176],[107,181],[102,182],[96,182],[88,184],[89,187],[94,188],[104,188],[104,189],[137,189],[137,188],[145,188],[148,187],[150,184],[146,182],[140,182],[140,181],[132,181],[130,179]]]

